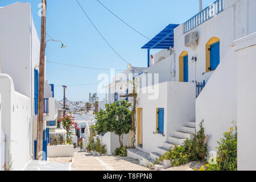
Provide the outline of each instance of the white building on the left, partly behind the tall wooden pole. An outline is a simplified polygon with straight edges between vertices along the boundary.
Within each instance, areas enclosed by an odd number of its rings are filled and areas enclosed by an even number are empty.
[[[37,126],[38,66],[40,42],[30,3],[0,7],[1,129],[5,134],[5,166],[19,170],[34,158]],[[53,85],[45,83],[44,123],[57,117]],[[53,91],[53,92],[52,92]],[[46,129],[46,128],[45,128]],[[1,156],[1,158],[2,158]]]

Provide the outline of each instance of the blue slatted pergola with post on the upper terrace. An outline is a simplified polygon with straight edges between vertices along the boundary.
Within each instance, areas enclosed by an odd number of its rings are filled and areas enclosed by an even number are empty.
[[[150,49],[170,49],[170,47],[174,47],[174,28],[177,26],[179,24],[169,24],[142,47],[142,49],[147,49],[147,67],[150,66]]]

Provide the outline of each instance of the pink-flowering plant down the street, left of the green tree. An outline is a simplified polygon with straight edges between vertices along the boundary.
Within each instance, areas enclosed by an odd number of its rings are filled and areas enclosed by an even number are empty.
[[[67,131],[67,143],[72,144],[72,130],[80,130],[77,124],[74,122],[74,118],[72,115],[65,114],[61,118],[58,119],[58,123],[62,123],[64,129]]]

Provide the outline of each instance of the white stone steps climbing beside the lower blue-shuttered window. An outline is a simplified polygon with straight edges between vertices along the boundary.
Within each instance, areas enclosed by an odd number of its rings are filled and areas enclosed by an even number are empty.
[[[159,158],[166,153],[170,147],[174,147],[175,144],[177,144],[177,146],[183,145],[187,138],[191,139],[193,137],[192,134],[195,134],[195,130],[196,122],[187,122],[186,125],[181,126],[179,131],[175,131],[173,136],[168,137],[167,141],[163,143],[163,146],[156,147],[156,151],[150,153],[150,158]]]

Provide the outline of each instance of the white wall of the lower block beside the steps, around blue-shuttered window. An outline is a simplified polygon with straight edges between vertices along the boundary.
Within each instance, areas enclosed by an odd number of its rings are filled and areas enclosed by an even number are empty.
[[[159,97],[154,100],[148,99],[150,94],[138,94],[138,107],[143,109],[143,150],[147,152],[161,147],[184,123],[195,121],[195,83],[169,81],[158,86]],[[156,132],[156,108],[164,108],[164,136],[153,133]]]

